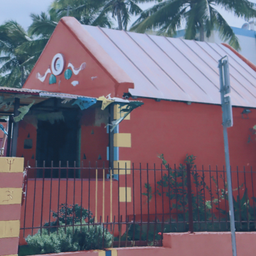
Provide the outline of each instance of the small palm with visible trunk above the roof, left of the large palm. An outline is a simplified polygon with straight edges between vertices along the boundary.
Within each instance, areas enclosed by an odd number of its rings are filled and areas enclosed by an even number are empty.
[[[102,13],[111,13],[115,19],[117,17],[118,29],[127,30],[127,25],[131,19],[130,15],[138,15],[142,12],[138,3],[145,3],[147,0],[105,0]]]

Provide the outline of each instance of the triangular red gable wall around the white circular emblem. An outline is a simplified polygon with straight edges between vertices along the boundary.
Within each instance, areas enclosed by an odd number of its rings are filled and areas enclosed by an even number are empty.
[[[56,76],[56,84],[49,84],[51,74],[47,74],[45,81],[42,83],[36,79],[36,74],[39,72],[41,75],[44,75],[47,68],[51,66],[52,58],[57,53],[61,53],[65,56],[66,65],[64,71],[60,76]],[[81,70],[77,76],[73,74],[71,79],[66,80],[64,72],[67,70],[68,61],[70,61],[75,68],[80,67],[81,63],[85,62],[86,68]],[[96,79],[91,79],[91,77],[96,76]],[[73,86],[71,82],[74,80],[79,81],[79,84]],[[95,58],[84,50],[74,35],[60,22],[29,75],[28,80],[24,84],[24,88],[49,92],[72,93],[88,97],[100,97],[102,95],[108,95],[109,93],[114,95],[115,82],[109,77],[107,72],[99,66]]]

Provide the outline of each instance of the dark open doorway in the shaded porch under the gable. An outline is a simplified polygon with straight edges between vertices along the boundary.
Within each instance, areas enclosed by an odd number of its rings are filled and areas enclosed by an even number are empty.
[[[65,121],[59,120],[51,124],[48,121],[38,120],[36,139],[36,160],[38,167],[74,167],[77,161],[77,131],[78,121],[76,113],[65,113]],[[58,177],[58,170],[54,170],[52,177]],[[42,173],[42,172],[40,172]],[[39,175],[42,176],[42,175]],[[77,175],[76,175],[77,176]],[[51,170],[45,171],[45,177],[51,177]],[[67,169],[61,169],[61,178],[67,177]],[[74,177],[74,170],[68,170],[68,177]]]

